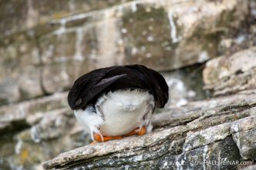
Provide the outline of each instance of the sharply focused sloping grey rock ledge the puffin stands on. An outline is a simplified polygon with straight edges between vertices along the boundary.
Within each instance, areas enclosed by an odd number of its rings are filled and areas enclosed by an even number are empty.
[[[156,128],[150,134],[76,148],[43,167],[234,169],[239,168],[238,162],[251,165],[256,158],[255,98],[255,91],[245,91],[205,101],[205,107],[192,102],[183,112],[173,108],[156,115]],[[180,119],[174,122],[173,118]]]

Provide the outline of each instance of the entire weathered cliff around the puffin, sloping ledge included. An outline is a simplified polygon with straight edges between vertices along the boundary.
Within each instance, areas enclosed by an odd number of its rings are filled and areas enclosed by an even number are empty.
[[[52,158],[45,168],[255,162],[255,1],[10,0],[0,9],[1,169],[42,170]],[[153,133],[89,145],[66,91],[94,68],[134,63],[170,87]]]

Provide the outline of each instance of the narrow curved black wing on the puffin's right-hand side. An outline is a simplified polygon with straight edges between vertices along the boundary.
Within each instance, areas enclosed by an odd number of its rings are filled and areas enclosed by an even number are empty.
[[[156,98],[157,107],[163,108],[169,98],[169,88],[163,76],[159,72],[147,68],[144,65],[126,65],[126,67],[136,69],[143,73],[150,83],[154,98]]]

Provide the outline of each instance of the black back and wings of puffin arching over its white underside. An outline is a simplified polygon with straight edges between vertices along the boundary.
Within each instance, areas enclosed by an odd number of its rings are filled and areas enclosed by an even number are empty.
[[[99,68],[79,77],[69,91],[70,108],[85,109],[103,93],[118,89],[140,88],[153,94],[158,108],[168,100],[167,82],[160,73],[143,65]]]

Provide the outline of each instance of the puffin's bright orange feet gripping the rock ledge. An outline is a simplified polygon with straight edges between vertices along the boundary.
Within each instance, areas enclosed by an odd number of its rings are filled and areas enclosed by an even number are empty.
[[[94,141],[91,144],[93,145],[96,142],[106,142],[106,141],[110,141],[113,139],[120,139],[120,138],[124,138],[124,137],[130,136],[130,135],[145,135],[146,132],[147,132],[147,128],[145,128],[143,126],[142,128],[136,128],[132,132],[127,133],[126,135],[122,135],[122,136],[101,136],[101,135],[95,133],[93,135]]]

